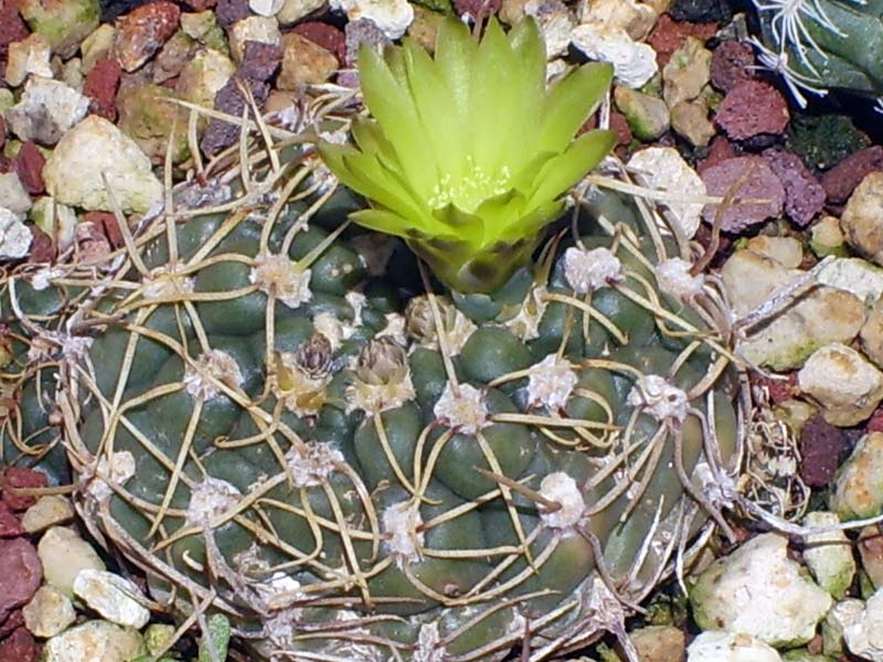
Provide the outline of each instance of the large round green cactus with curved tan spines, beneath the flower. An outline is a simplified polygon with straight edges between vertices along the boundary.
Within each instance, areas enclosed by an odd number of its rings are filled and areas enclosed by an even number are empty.
[[[226,613],[268,659],[542,660],[616,630],[738,469],[744,381],[694,247],[582,186],[551,235],[476,214],[511,231],[486,227],[493,246],[544,242],[536,260],[435,293],[401,248],[376,268],[352,195],[292,152],[310,132],[268,135],[235,201],[188,209],[184,186],[100,287],[57,280],[83,297],[55,361],[86,524],[170,609]],[[576,170],[546,173],[549,205]],[[443,282],[475,285],[471,248]]]

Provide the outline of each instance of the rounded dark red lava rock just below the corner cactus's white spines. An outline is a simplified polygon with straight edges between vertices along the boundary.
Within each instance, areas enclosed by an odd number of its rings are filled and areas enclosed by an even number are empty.
[[[788,103],[778,89],[759,81],[743,81],[726,93],[714,121],[735,140],[781,134],[788,126]]]

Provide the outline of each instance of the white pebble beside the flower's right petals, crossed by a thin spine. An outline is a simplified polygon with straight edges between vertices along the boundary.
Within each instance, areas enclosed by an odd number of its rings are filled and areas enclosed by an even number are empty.
[[[629,159],[628,168],[642,186],[678,195],[705,195],[702,179],[672,147],[641,149]],[[703,203],[670,202],[664,207],[670,222],[677,223],[687,238],[693,238],[699,229]]]

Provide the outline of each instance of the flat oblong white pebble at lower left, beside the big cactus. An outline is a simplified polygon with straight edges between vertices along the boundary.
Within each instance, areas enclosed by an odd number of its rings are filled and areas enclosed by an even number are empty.
[[[74,579],[74,594],[108,621],[139,630],[150,620],[140,589],[120,575],[83,569]]]

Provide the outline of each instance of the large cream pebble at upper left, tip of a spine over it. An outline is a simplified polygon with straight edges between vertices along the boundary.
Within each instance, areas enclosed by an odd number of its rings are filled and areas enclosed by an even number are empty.
[[[162,204],[162,184],[150,159],[113,124],[91,115],[58,141],[43,180],[63,204],[111,211],[102,173],[125,213],[143,214]]]

